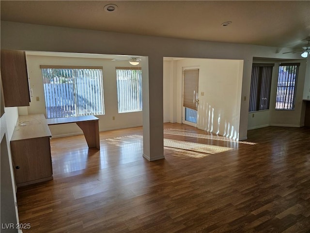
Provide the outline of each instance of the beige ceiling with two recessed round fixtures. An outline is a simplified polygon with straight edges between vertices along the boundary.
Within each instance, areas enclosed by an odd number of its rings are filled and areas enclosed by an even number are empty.
[[[109,3],[117,10],[106,12]],[[310,0],[1,0],[0,8],[5,21],[205,41],[301,49],[310,36]]]

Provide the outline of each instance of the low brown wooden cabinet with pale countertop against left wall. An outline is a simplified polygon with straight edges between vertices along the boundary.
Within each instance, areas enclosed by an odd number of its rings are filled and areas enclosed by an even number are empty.
[[[44,115],[18,117],[11,139],[17,187],[53,179],[50,137]]]

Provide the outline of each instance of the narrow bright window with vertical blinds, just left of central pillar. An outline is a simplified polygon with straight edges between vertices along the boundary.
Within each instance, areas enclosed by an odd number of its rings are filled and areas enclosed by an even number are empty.
[[[118,112],[142,111],[142,72],[140,67],[116,67]]]

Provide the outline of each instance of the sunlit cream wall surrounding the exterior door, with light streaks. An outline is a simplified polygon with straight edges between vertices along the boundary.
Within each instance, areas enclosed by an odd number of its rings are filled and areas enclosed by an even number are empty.
[[[175,58],[164,62],[164,74],[167,74],[164,75],[164,83],[169,73],[171,79],[176,75],[177,79],[170,86],[171,92],[175,94],[171,97],[171,100],[168,100],[164,87],[164,103],[173,103],[173,98],[176,99],[175,104],[170,104],[170,108],[177,113],[176,121],[178,123],[182,122],[182,70],[197,67],[199,68],[200,99],[198,128],[238,139],[243,61],[196,58],[173,59]],[[176,87],[176,91],[173,90],[174,87]],[[203,96],[201,96],[201,92],[204,92]],[[164,108],[164,116],[167,114],[168,110]]]

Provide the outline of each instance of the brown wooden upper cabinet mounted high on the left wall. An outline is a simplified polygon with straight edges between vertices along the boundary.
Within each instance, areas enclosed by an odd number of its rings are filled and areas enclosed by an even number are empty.
[[[29,106],[30,92],[24,51],[1,50],[1,79],[5,107]]]

